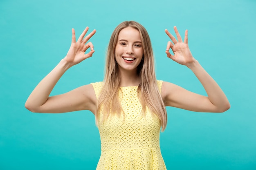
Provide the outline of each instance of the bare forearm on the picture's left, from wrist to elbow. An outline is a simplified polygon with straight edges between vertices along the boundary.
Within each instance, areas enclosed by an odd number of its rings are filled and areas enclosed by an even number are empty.
[[[25,107],[28,110],[36,111],[37,108],[42,106],[47,101],[58,80],[69,67],[65,59],[61,60],[61,62],[39,82],[36,88],[34,88],[25,103]]]

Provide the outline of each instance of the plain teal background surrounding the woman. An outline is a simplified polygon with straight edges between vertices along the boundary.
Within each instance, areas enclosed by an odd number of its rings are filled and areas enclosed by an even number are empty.
[[[103,79],[112,31],[124,20],[148,30],[157,79],[205,94],[193,73],[166,57],[164,29],[177,26],[231,103],[222,114],[167,108],[161,133],[168,170],[256,169],[255,0],[0,0],[0,170],[93,170],[99,132],[89,111],[37,114],[24,104],[67,53],[71,29],[97,33],[95,53],[63,75],[52,95]]]

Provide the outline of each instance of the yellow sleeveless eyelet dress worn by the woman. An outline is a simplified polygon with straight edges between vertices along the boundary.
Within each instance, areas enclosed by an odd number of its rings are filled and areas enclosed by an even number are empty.
[[[161,92],[162,81],[157,85]],[[92,86],[98,98],[103,82]],[[159,145],[160,120],[147,107],[142,115],[137,88],[120,87],[124,115],[110,115],[99,124],[101,156],[96,170],[166,170]],[[102,114],[100,110],[99,119]]]

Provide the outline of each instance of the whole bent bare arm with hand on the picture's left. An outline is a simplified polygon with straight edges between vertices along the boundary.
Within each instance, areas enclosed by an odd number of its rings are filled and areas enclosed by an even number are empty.
[[[85,36],[88,32],[85,28],[76,41],[75,31],[72,29],[72,43],[67,55],[57,66],[34,88],[29,95],[25,107],[37,113],[64,113],[75,110],[91,110],[94,113],[96,97],[92,85],[76,88],[68,93],[49,97],[52,89],[67,71],[68,68],[89,58],[94,53],[93,44],[88,40],[96,30]],[[85,38],[84,38],[85,36]],[[90,48],[89,53],[85,53]]]

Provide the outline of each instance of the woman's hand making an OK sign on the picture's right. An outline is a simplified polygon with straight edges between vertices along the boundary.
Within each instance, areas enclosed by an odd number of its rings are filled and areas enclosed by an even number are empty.
[[[189,50],[188,30],[185,31],[184,42],[182,41],[182,38],[176,26],[174,26],[174,31],[177,35],[178,40],[176,40],[175,37],[171,35],[171,33],[167,29],[165,30],[168,37],[171,38],[172,40],[172,42],[168,41],[167,43],[167,47],[165,51],[167,54],[167,57],[171,58],[173,61],[179,64],[189,66],[190,64],[193,64],[193,62],[195,62],[195,59],[192,56],[191,51]],[[172,55],[169,52],[170,48],[172,49],[174,55]]]

